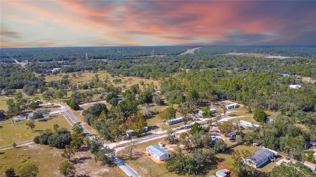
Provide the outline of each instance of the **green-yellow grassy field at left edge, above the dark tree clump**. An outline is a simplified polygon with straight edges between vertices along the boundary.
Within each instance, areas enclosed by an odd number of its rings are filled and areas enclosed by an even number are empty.
[[[54,124],[58,124],[59,127],[65,127],[71,131],[71,124],[64,118],[64,116],[59,114],[58,116],[58,118],[51,118],[47,121],[35,120],[35,128],[33,131],[31,129],[27,129],[27,126],[25,125],[28,120],[23,120],[23,124],[15,126],[12,123],[1,125],[0,146],[12,145],[13,143],[33,140],[34,137],[40,135],[41,130],[45,130],[47,128],[53,129]]]

